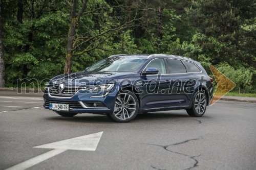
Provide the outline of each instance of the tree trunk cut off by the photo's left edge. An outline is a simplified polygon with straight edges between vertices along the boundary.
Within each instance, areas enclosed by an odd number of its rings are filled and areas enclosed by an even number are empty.
[[[5,59],[4,59],[4,45],[2,35],[2,13],[0,0],[0,87],[5,87]]]

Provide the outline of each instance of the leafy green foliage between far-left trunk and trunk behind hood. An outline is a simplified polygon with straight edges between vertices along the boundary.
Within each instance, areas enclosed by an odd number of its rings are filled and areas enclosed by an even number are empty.
[[[60,74],[68,30],[66,4],[4,0],[2,7],[7,86],[20,78]]]

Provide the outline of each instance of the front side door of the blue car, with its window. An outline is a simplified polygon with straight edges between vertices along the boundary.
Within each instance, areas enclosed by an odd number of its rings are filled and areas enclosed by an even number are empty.
[[[166,99],[166,91],[168,91],[169,83],[166,82],[168,80],[168,70],[166,69],[166,63],[164,58],[156,58],[151,60],[143,69],[146,68],[157,68],[159,70],[158,75],[146,75],[142,76],[143,84],[141,88],[143,90],[143,94],[141,95],[142,107],[145,109],[148,108],[159,108],[168,106],[165,103]]]

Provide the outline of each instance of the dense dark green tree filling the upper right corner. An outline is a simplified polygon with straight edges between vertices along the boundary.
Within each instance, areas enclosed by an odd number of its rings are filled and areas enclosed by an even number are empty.
[[[254,0],[193,1],[186,12],[198,31],[194,43],[201,47],[193,58],[203,55],[212,64],[225,61],[230,65],[255,66],[256,50],[246,49],[245,44],[256,39],[243,29],[255,23],[255,11]]]

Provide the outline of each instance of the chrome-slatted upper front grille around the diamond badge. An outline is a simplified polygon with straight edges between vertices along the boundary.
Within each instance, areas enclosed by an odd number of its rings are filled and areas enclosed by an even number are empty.
[[[82,89],[83,87],[81,86],[67,86],[65,87],[65,89],[62,91],[62,93],[58,93],[58,85],[55,84],[49,84],[48,85],[49,88],[49,93],[52,96],[61,96],[61,97],[71,97],[73,96],[77,90]]]

